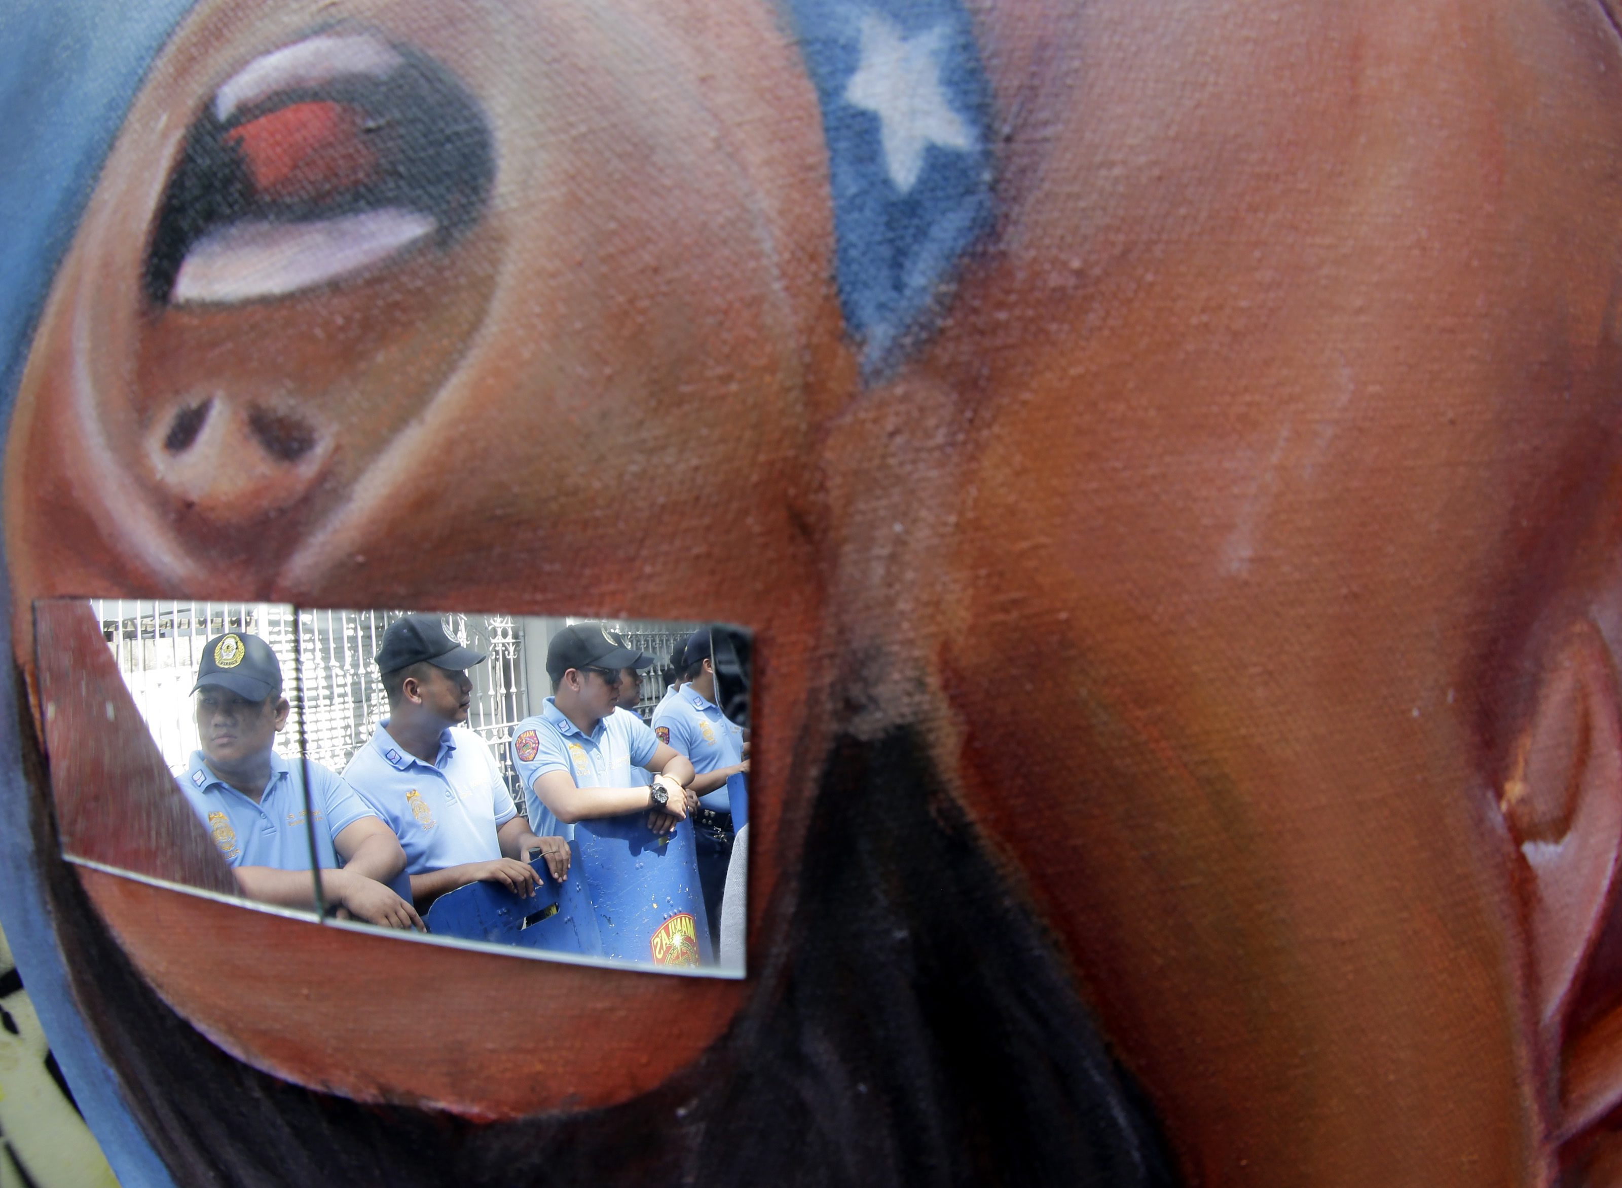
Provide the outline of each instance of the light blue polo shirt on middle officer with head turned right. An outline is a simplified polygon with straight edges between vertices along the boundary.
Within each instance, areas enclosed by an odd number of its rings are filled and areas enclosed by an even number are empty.
[[[496,830],[517,815],[485,741],[462,726],[440,734],[433,763],[401,747],[388,723],[344,768],[344,778],[394,830],[406,874],[501,857]]]

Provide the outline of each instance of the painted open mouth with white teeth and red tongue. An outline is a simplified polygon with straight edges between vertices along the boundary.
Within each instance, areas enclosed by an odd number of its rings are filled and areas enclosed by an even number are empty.
[[[368,32],[255,58],[187,133],[143,287],[157,305],[285,297],[478,220],[495,177],[477,102]]]

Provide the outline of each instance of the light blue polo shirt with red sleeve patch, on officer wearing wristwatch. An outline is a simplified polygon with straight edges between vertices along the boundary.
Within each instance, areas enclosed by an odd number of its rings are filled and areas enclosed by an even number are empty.
[[[542,712],[513,728],[513,762],[524,781],[529,828],[542,838],[574,840],[574,827],[535,796],[535,778],[568,771],[576,788],[636,788],[646,783],[634,768],[646,767],[659,739],[639,716],[616,708],[590,734],[563,716],[556,700],[547,699]]]

